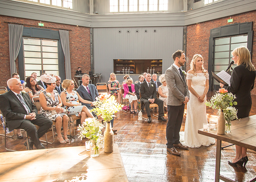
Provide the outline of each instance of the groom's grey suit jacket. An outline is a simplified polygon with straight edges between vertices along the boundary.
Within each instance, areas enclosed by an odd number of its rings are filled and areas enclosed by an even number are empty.
[[[167,105],[180,106],[185,101],[185,97],[189,97],[186,77],[183,76],[184,79],[173,65],[165,71],[165,80],[168,86]]]

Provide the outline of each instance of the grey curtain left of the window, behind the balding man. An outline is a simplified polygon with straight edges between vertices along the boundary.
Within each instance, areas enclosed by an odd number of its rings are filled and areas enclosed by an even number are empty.
[[[16,73],[15,59],[18,57],[19,48],[22,40],[23,25],[8,24],[9,27],[9,52],[11,75]]]

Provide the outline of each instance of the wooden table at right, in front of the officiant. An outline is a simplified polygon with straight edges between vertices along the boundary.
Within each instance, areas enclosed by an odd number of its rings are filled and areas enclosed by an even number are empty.
[[[204,131],[203,129],[198,130],[198,133],[217,139],[215,182],[219,182],[219,179],[226,182],[233,182],[233,180],[226,178],[219,173],[221,165],[221,141],[233,143],[256,151],[256,115],[232,121],[231,133],[229,134],[219,135],[217,134],[217,131]],[[250,182],[255,181],[256,177]]]

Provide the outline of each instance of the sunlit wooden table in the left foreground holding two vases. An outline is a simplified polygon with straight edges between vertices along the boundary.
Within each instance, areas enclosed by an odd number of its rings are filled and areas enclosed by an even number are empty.
[[[128,182],[117,144],[110,154],[89,153],[84,146],[1,153],[0,181]]]

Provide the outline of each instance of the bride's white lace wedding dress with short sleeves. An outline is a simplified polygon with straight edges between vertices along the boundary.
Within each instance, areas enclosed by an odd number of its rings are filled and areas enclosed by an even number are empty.
[[[187,74],[187,80],[191,80],[192,88],[199,95],[203,95],[206,79],[209,79],[209,74],[197,73],[196,75]],[[215,139],[200,135],[197,131],[203,128],[203,123],[207,123],[206,116],[206,97],[204,102],[199,102],[197,97],[193,95],[190,91],[190,98],[187,104],[187,118],[185,122],[185,132],[184,132],[184,143],[189,147],[200,147],[210,146],[215,143]]]

